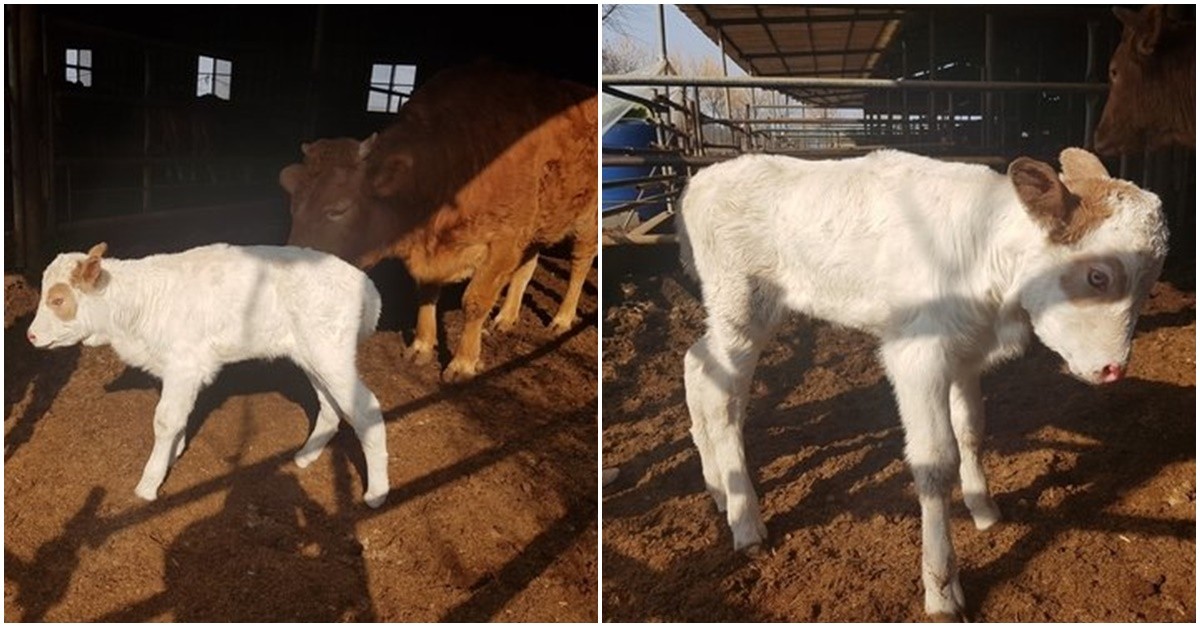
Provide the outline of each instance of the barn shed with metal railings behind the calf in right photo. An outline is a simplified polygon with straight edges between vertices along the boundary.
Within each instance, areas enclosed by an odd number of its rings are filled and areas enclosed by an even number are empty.
[[[708,83],[604,77],[605,97],[632,95],[658,132],[648,151],[605,150],[608,167],[658,168],[605,184],[642,190],[624,207],[637,217],[606,219],[616,227],[606,244],[671,241],[672,203],[690,172],[745,151],[836,159],[896,148],[1001,169],[1021,155],[1054,161],[1064,147],[1091,148],[1121,41],[1111,5],[678,6],[732,65]],[[1195,19],[1194,6],[1169,11]],[[671,59],[671,42],[660,44]],[[1194,275],[1195,151],[1106,165],[1163,197],[1170,263]]]

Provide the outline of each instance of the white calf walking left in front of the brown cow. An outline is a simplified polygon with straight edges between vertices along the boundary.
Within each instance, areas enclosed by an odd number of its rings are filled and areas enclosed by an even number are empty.
[[[40,348],[109,344],[125,363],[162,378],[155,444],[134,490],[154,501],[184,450],[196,395],[221,366],[288,357],[317,390],[317,425],[295,455],[305,467],[349,422],[367,462],[365,500],[388,496],[379,401],[359,380],[358,344],[374,332],[379,292],[353,265],[306,249],[223,244],[144,259],[101,259],[104,244],[59,255],[42,276],[29,327]]]

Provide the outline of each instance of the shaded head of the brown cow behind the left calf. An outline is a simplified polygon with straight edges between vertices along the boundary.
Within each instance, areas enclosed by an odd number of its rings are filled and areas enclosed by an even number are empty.
[[[280,172],[280,185],[292,196],[288,244],[337,255],[366,267],[383,255],[395,228],[388,196],[397,190],[370,184],[367,157],[376,136],[318,139],[302,144],[304,163]]]

